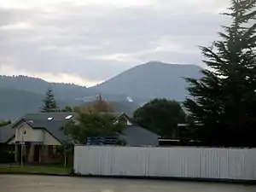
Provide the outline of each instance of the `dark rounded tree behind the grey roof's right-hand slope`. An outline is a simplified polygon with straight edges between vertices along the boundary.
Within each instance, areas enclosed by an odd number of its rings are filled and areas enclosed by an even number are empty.
[[[172,137],[178,123],[183,123],[185,113],[178,102],[154,99],[134,113],[138,125],[162,137]]]

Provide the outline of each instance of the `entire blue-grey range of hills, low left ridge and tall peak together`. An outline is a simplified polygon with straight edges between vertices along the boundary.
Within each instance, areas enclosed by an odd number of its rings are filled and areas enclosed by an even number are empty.
[[[96,94],[102,94],[116,111],[132,115],[136,108],[155,97],[183,101],[188,96],[188,84],[183,77],[198,79],[200,71],[201,67],[195,65],[150,61],[90,88],[26,76],[0,76],[0,119],[15,119],[24,113],[38,112],[49,86],[61,107],[88,104]]]

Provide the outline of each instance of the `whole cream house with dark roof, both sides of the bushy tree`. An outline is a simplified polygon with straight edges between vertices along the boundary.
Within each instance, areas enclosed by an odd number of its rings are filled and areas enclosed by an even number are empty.
[[[114,121],[125,123],[120,137],[128,146],[158,146],[158,135],[136,125],[125,113],[113,113]],[[27,113],[0,129],[0,143],[11,146],[15,161],[55,162],[67,136],[61,128],[77,113]],[[21,153],[22,152],[22,153]]]

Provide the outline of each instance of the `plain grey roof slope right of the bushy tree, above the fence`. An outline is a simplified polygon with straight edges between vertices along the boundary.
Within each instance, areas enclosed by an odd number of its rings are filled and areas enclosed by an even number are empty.
[[[152,131],[148,131],[138,125],[127,125],[125,127],[124,135],[127,145],[130,146],[143,146],[152,145],[158,146],[158,138],[160,136]]]

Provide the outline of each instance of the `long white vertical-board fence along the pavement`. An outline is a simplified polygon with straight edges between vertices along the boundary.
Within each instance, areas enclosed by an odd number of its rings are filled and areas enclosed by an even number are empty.
[[[256,149],[76,146],[73,168],[96,176],[256,180]]]

